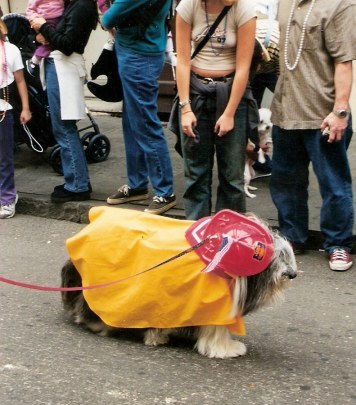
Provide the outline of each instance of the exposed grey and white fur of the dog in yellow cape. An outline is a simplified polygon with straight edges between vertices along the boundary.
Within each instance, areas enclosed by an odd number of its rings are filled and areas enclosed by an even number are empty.
[[[238,277],[234,289],[234,305],[232,316],[246,315],[258,308],[280,299],[289,280],[297,275],[297,266],[293,249],[289,242],[277,232],[257,219],[271,233],[274,242],[274,255],[270,265],[262,273]],[[138,269],[140,271],[142,269]],[[81,277],[74,265],[68,260],[62,268],[62,287],[81,286]],[[82,324],[92,332],[102,336],[118,330],[106,325],[91,311],[81,291],[63,292],[62,302],[69,318],[76,324]],[[235,340],[225,326],[196,326],[176,329],[147,329],[144,332],[144,343],[148,346],[158,346],[168,342],[169,335],[178,334],[190,336],[196,340],[195,348],[207,357],[230,358],[246,353],[246,346]]]

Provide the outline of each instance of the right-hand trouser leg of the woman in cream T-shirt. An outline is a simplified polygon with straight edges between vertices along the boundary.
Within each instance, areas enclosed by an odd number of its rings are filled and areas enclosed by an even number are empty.
[[[216,211],[246,211],[244,169],[247,142],[247,106],[241,101],[235,114],[235,126],[229,134],[215,137],[219,186]]]

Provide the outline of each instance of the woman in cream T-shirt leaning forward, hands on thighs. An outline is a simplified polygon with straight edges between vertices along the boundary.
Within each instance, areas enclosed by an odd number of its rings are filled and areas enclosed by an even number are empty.
[[[191,60],[192,51],[227,5],[231,8]],[[215,154],[219,179],[215,211],[245,212],[248,103],[244,94],[255,44],[254,7],[249,0],[181,0],[176,13],[186,217],[197,220],[212,213]]]

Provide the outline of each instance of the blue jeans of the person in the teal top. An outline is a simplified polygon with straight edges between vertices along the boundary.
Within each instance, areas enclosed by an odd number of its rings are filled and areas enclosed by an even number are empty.
[[[158,78],[164,55],[132,53],[115,42],[123,89],[122,125],[128,185],[145,190],[148,179],[155,195],[173,194],[173,170],[157,113]]]

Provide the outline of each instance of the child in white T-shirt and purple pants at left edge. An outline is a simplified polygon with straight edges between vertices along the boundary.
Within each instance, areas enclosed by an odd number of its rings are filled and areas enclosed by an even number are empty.
[[[15,45],[5,41],[6,35],[6,25],[0,19],[0,219],[15,215],[18,199],[14,174],[14,118],[9,103],[14,82],[22,104],[20,122],[25,124],[31,119],[21,54]]]

